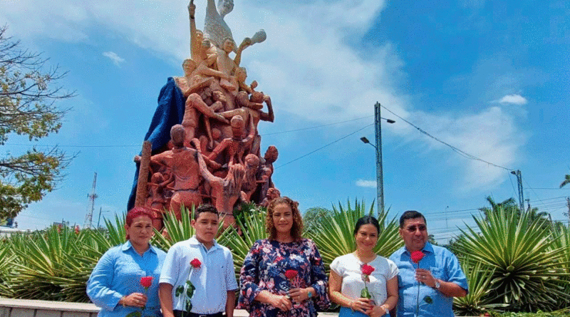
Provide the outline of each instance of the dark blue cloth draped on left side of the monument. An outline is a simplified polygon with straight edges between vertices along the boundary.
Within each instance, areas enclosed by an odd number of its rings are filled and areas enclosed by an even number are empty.
[[[172,128],[172,125],[182,123],[184,109],[185,99],[182,90],[178,88],[174,78],[169,77],[166,85],[160,90],[158,106],[145,135],[145,141],[148,140],[152,143],[152,155],[156,154],[156,150],[160,150],[170,141],[170,128]],[[140,146],[142,147],[142,143]],[[130,191],[127,210],[135,206],[140,163],[137,162],[136,166],[135,180],[133,181],[133,189]]]

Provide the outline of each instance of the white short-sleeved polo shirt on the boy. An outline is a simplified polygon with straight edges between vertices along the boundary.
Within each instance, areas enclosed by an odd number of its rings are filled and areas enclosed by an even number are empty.
[[[202,266],[195,269],[190,261],[198,259]],[[190,275],[190,271],[192,274]],[[185,296],[176,296],[178,286],[185,286],[188,276],[196,287],[192,302],[192,313],[211,314],[226,310],[227,291],[237,290],[232,252],[217,244],[207,250],[196,236],[177,242],[170,247],[162,265],[160,283],[172,285],[172,308],[183,311]]]

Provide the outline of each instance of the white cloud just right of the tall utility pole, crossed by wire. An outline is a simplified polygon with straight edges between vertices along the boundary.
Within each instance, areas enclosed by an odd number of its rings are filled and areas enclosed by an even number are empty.
[[[498,106],[461,116],[415,111],[407,113],[407,117],[407,120],[437,139],[469,155],[507,169],[514,168],[527,140],[527,135],[517,127],[517,117]],[[447,145],[421,134],[411,126],[390,130],[405,137],[408,142],[419,142],[419,149],[440,153],[448,165],[459,167],[457,189],[460,192],[489,189],[506,180],[504,169],[463,157]]]

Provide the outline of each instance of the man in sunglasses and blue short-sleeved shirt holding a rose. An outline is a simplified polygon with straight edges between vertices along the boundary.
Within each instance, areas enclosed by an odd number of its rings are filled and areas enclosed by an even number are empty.
[[[400,270],[397,316],[453,317],[453,297],[468,291],[457,257],[427,241],[427,224],[420,212],[402,214],[400,237],[405,246],[390,256]]]

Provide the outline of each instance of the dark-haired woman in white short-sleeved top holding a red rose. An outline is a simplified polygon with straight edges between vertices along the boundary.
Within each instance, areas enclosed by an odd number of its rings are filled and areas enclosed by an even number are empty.
[[[354,228],[356,251],[338,256],[331,264],[328,284],[331,301],[341,305],[339,317],[380,317],[398,303],[398,267],[373,251],[379,231],[374,217],[358,219]],[[365,265],[374,269],[368,278],[362,270]],[[371,298],[361,297],[365,286]]]

